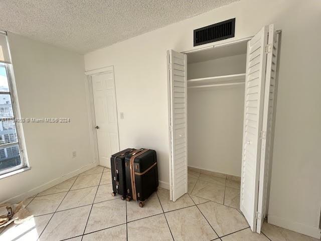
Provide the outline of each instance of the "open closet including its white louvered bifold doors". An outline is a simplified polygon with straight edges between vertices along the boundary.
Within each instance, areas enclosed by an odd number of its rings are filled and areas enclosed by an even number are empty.
[[[279,33],[271,24],[224,46],[167,52],[170,199],[189,193],[239,207],[258,233],[267,213]]]

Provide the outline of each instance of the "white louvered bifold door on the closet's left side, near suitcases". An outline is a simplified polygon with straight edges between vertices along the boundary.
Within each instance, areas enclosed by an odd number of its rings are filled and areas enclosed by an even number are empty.
[[[187,193],[187,56],[168,51],[170,109],[170,199]]]

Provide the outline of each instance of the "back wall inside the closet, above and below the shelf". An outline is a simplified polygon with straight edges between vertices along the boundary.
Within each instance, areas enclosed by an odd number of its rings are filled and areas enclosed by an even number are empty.
[[[245,73],[246,54],[187,65],[187,78]],[[188,89],[188,165],[241,176],[244,85]]]

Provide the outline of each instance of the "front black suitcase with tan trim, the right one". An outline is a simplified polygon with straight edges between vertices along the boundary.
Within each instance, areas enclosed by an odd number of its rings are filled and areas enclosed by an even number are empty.
[[[158,187],[158,171],[156,152],[150,149],[139,149],[126,155],[127,201],[130,199],[143,202]]]

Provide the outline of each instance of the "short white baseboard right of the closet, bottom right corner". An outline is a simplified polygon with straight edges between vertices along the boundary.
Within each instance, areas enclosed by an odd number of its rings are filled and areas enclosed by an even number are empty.
[[[279,216],[269,214],[267,222],[314,238],[320,239],[321,237],[320,229],[318,227],[307,226],[303,223],[294,222]]]

